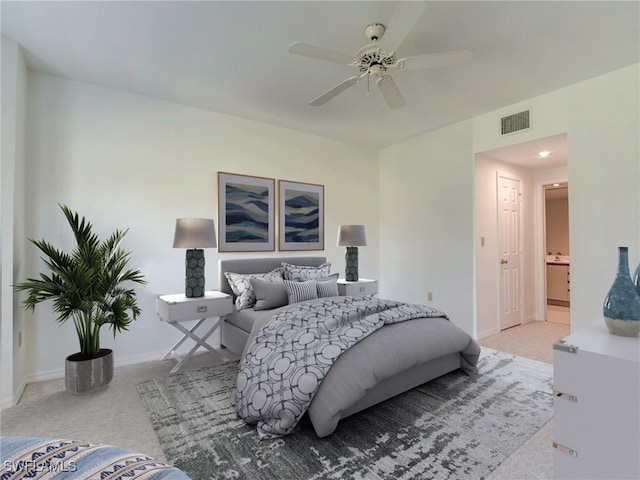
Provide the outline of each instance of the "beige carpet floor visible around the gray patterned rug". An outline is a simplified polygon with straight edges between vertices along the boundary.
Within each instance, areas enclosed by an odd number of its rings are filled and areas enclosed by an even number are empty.
[[[514,327],[479,343],[551,363],[552,344],[568,334],[566,325],[536,322]],[[183,370],[219,361],[210,353],[202,353],[195,355]],[[30,384],[18,405],[0,412],[0,434],[61,437],[120,445],[166,461],[138,397],[136,384],[169,375],[174,364],[174,360],[165,360],[116,368],[114,380],[108,387],[87,395],[67,393],[63,379]],[[551,478],[551,434],[552,428],[547,424],[490,478]]]

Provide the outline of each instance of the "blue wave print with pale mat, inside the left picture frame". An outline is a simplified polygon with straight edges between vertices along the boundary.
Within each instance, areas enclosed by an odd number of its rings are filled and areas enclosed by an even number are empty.
[[[269,188],[227,183],[225,194],[227,243],[268,243]]]

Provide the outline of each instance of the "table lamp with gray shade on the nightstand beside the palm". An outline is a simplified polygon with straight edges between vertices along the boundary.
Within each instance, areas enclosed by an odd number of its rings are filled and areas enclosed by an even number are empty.
[[[209,218],[178,218],[173,248],[186,248],[184,293],[204,297],[204,250],[216,246],[216,231]]]

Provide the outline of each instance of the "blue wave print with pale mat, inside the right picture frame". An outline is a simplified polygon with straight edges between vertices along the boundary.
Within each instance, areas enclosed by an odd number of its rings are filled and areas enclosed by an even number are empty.
[[[320,195],[315,192],[285,190],[284,236],[287,243],[320,241]]]

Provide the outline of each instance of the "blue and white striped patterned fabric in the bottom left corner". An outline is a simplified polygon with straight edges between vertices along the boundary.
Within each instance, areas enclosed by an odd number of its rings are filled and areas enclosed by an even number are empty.
[[[189,480],[147,455],[75,440],[1,437],[0,457],[0,480]]]

